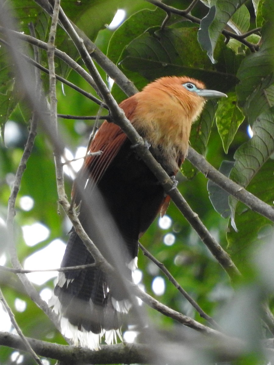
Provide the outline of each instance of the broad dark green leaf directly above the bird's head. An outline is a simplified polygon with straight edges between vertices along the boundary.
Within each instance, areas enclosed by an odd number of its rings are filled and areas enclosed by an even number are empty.
[[[203,80],[209,88],[227,91],[237,82],[237,60],[223,43],[218,57],[230,62],[214,68],[197,41],[197,28],[149,31],[134,39],[123,51],[123,69],[140,73],[147,80],[168,75],[187,75]]]

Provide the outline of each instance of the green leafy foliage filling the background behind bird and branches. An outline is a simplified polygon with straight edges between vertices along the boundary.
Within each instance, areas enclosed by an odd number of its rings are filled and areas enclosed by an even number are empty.
[[[164,3],[177,9],[186,9],[190,5],[189,0],[170,0]],[[28,23],[33,22],[37,38],[47,42],[50,17],[46,12],[32,0],[12,0],[10,5],[20,31],[29,34]],[[199,153],[205,154],[207,161],[217,169],[224,160],[236,161],[230,177],[266,203],[273,205],[274,8],[272,0],[242,0],[240,2],[217,0],[211,1],[210,4],[208,1],[199,1],[191,11],[191,16],[203,18],[200,25],[178,14],[172,14],[163,29],[161,24],[166,15],[165,11],[155,8],[148,1],[63,0],[61,6],[66,15],[134,82],[139,90],[157,77],[185,74],[202,80],[208,88],[227,93],[227,100],[220,100],[218,104],[208,102],[201,120],[193,126],[190,144]],[[214,7],[217,10],[213,14]],[[126,10],[126,20],[116,30],[110,30],[106,24],[110,24],[118,8]],[[201,30],[198,32],[199,27]],[[253,33],[252,30],[257,27],[258,31]],[[227,31],[225,35],[221,34],[223,29]],[[251,34],[247,37],[231,38],[228,32],[233,29],[236,29],[239,34],[249,31]],[[57,31],[56,47],[84,66],[72,41],[68,40],[61,27]],[[30,55],[33,53],[32,48],[28,46],[23,51]],[[41,64],[47,67],[45,51],[41,51]],[[103,80],[107,82],[106,73],[100,66],[98,69]],[[56,73],[96,95],[79,74],[71,71],[57,58]],[[47,91],[47,75],[42,74],[42,80]],[[0,215],[3,221],[7,216],[11,189],[9,181],[12,180],[18,168],[28,135],[30,118],[26,100],[16,91],[16,78],[14,78],[10,62],[7,62],[7,49],[1,45]],[[113,86],[112,93],[118,102],[126,97],[116,84]],[[57,99],[60,114],[96,115],[99,110],[98,105],[66,85],[62,86],[60,82],[57,84]],[[102,113],[106,112],[102,111]],[[5,145],[3,135],[7,120],[16,123],[20,135],[17,140],[13,139]],[[66,147],[75,155],[77,147],[87,145],[94,121],[79,122],[60,118],[58,124]],[[254,133],[252,139],[247,133],[248,126],[252,127]],[[231,169],[231,165],[229,166]],[[259,339],[260,333],[248,327],[250,321],[247,320],[248,315],[245,310],[249,308],[247,304],[250,298],[253,298],[256,307],[256,300],[259,300],[256,298],[268,294],[273,281],[271,281],[271,273],[267,275],[266,281],[263,277],[259,278],[258,271],[262,270],[262,267],[259,270],[256,269],[251,257],[254,256],[253,251],[260,247],[261,241],[269,242],[273,222],[250,210],[243,203],[237,203],[233,198],[228,200],[228,196],[223,191],[214,191],[214,185],[213,191],[210,191],[213,196],[209,197],[208,180],[201,173],[197,173],[189,161],[183,165],[182,173],[178,177],[179,191],[210,233],[231,254],[232,260],[244,273],[243,278],[231,284],[217,260],[209,253],[173,203],[167,211],[167,215],[172,220],[170,228],[161,229],[156,220],[142,237],[141,243],[153,256],[163,262],[179,284],[208,315],[216,319],[222,318],[224,323],[226,322],[224,318],[226,320],[230,318],[231,327],[234,325],[234,329],[237,328],[236,332],[232,331],[233,335],[237,333],[240,337],[244,337],[243,334],[250,333],[250,337],[247,336],[248,341],[251,341],[252,336]],[[71,179],[66,176],[68,196],[71,185]],[[30,211],[22,210],[18,203],[20,197],[26,195],[34,200],[34,207]],[[213,208],[210,199],[218,212]],[[20,262],[24,262],[26,257],[47,246],[56,238],[66,241],[69,228],[68,224],[65,224],[65,215],[62,210],[58,212],[57,200],[53,149],[45,131],[38,126],[34,149],[28,159],[16,202],[15,240]],[[225,218],[220,216],[220,212]],[[34,222],[44,224],[49,228],[50,234],[43,242],[29,247],[24,242],[20,227]],[[237,231],[232,227],[235,225]],[[9,266],[4,225],[1,226],[1,232],[0,254],[6,255],[5,265]],[[167,246],[163,242],[167,233],[172,233],[175,237],[175,243],[172,246]],[[263,251],[265,252],[265,256],[262,256],[264,262],[267,261],[268,250]],[[142,283],[148,293],[155,296],[151,288],[153,279],[156,276],[163,277],[165,291],[157,299],[176,311],[206,323],[141,252],[138,266],[143,274]],[[270,268],[266,265],[266,270],[268,269]],[[50,342],[65,343],[53,324],[26,295],[14,274],[0,271],[0,284],[24,335]],[[53,280],[37,286],[37,291],[40,292],[43,287],[53,288]],[[246,301],[240,310],[239,296],[243,292],[246,293]],[[258,292],[260,295],[254,295]],[[26,302],[26,310],[22,313],[16,311],[16,298]],[[270,295],[270,308],[273,308],[271,298]],[[229,317],[229,307],[230,310],[234,308],[234,315],[231,317]],[[151,321],[157,323],[157,327],[167,330],[175,326],[171,318],[151,308],[148,308],[148,312]],[[243,323],[239,323],[239,316]],[[228,330],[228,327],[225,329]],[[267,337],[273,337],[270,331],[265,329],[264,331]],[[11,363],[12,352],[13,350],[9,347],[2,347],[0,362]],[[249,353],[237,361],[250,364],[250,361],[256,363],[257,360],[255,355],[251,360]],[[23,359],[26,364],[30,364],[30,361],[28,357]],[[49,361],[54,363],[53,360]]]

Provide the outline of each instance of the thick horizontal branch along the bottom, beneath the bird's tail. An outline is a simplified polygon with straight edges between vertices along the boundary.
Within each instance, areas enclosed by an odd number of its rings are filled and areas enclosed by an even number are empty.
[[[188,364],[205,358],[212,364],[230,362],[246,354],[246,344],[239,339],[223,337],[220,339],[205,338],[196,334],[188,339],[184,333],[177,333],[176,340],[166,332],[158,337],[155,348],[144,343],[119,343],[102,345],[98,351],[75,346],[57,345],[27,337],[37,354],[59,360],[66,365],[95,364]],[[265,347],[266,361],[273,359],[273,338],[262,341]],[[0,345],[17,350],[24,350],[19,336],[8,332],[0,333]],[[201,357],[198,357],[201,356]]]

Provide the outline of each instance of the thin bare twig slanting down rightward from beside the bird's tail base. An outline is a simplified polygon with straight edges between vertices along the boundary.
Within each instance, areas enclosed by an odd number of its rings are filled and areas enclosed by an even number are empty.
[[[171,273],[168,271],[165,265],[159,260],[157,260],[140,242],[139,242],[139,247],[143,251],[144,255],[160,268],[160,270],[165,274],[165,276],[175,286],[175,288],[178,289],[178,291],[182,293],[182,295],[186,298],[186,300],[188,300],[189,303],[197,310],[199,315],[202,318],[206,319],[210,324],[213,324],[215,328],[218,328],[218,324],[214,321],[214,319],[211,318],[209,315],[207,315],[199,306],[199,304],[193,298],[191,298],[191,296],[181,287],[181,285],[178,283],[178,281],[175,280],[175,278],[171,275]]]

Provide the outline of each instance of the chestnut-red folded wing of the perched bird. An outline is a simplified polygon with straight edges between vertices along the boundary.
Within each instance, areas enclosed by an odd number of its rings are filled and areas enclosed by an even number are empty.
[[[134,96],[119,104],[129,120],[133,118],[136,104],[137,100]],[[88,179],[88,184],[98,183],[123,143],[125,143],[126,138],[126,134],[119,126],[114,123],[108,123],[106,120],[103,122],[87,148],[87,157],[77,175],[72,193],[75,196],[76,203],[76,185],[78,190],[84,188]],[[92,155],[92,153],[98,151],[102,151],[102,153],[100,155]]]

